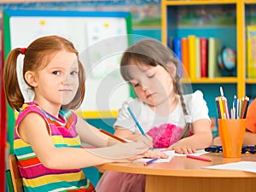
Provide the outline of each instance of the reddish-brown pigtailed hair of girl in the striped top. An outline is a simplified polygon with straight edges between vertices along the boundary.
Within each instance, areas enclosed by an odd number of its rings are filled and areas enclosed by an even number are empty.
[[[79,56],[78,51],[74,48],[70,41],[68,41],[66,38],[61,38],[58,36],[46,36],[38,38],[26,48],[26,51],[21,48],[15,48],[10,51],[3,67],[3,84],[7,102],[11,108],[20,111],[20,108],[24,103],[24,97],[20,91],[16,72],[17,57],[21,54],[21,51],[22,54],[25,55],[22,72],[22,77],[24,79],[24,75],[27,71],[35,72],[38,69],[43,69],[46,67],[49,61],[51,61],[55,54],[61,50],[66,50]],[[62,106],[62,108],[79,108],[80,104],[84,100],[84,90],[85,72],[82,63],[79,61],[79,89],[76,96],[74,96],[73,101],[65,106]]]

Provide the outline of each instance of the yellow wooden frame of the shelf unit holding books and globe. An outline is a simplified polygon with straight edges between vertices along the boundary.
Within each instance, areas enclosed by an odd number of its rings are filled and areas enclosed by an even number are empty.
[[[187,0],[187,1],[175,1],[175,0],[162,0],[161,2],[161,15],[162,15],[162,42],[167,44],[168,41],[168,20],[170,9],[177,8],[179,6],[234,6],[236,10],[236,77],[224,77],[215,79],[190,79],[192,84],[236,84],[237,96],[247,95],[248,86],[256,84],[256,79],[246,78],[246,11],[250,6],[255,5],[256,10],[256,0]],[[255,23],[256,25],[256,23]],[[196,34],[195,34],[196,35]]]

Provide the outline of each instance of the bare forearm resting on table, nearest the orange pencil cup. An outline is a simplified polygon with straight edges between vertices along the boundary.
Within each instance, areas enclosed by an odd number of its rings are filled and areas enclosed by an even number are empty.
[[[195,153],[196,149],[212,145],[212,130],[208,119],[196,120],[193,123],[193,131],[193,136],[183,138],[168,149],[180,154],[191,154]]]

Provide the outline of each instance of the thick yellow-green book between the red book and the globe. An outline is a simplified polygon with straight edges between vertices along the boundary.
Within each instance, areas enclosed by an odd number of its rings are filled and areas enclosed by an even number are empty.
[[[208,38],[208,78],[221,77],[221,69],[218,66],[221,50],[222,42],[219,38]]]

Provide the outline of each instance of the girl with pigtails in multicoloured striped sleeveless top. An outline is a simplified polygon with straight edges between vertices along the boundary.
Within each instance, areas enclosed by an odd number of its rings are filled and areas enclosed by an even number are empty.
[[[38,38],[9,53],[3,80],[9,106],[19,112],[14,151],[25,191],[94,191],[81,168],[161,155],[144,154],[150,147],[144,137],[119,143],[79,118],[71,109],[84,99],[84,79],[79,53],[66,38]],[[20,89],[24,84],[28,89]],[[80,148],[81,142],[98,148]]]

